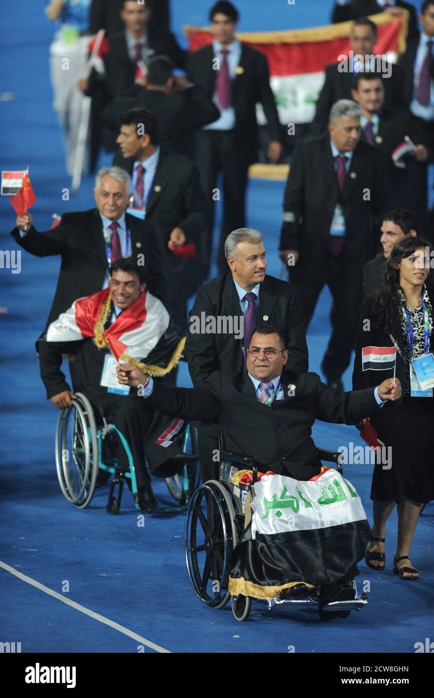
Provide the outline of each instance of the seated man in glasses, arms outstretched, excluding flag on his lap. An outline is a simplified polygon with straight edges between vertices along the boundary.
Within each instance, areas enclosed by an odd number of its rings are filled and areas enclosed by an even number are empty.
[[[315,419],[355,424],[362,415],[387,409],[384,402],[399,399],[401,385],[389,378],[375,388],[334,391],[316,373],[286,371],[287,355],[283,332],[267,325],[257,328],[251,336],[246,371],[214,371],[200,387],[156,385],[132,364],[120,364],[117,372],[121,385],[140,386],[137,400],[144,405],[182,419],[212,420],[223,430],[228,451],[253,456],[263,472],[269,470],[306,481],[319,475],[322,468],[311,437]],[[364,556],[367,537],[368,526],[354,538],[352,546],[345,551],[339,549],[337,572],[318,567],[313,577],[301,574],[293,578],[290,566],[282,567],[280,586],[288,588],[294,579],[310,579],[309,584],[326,584],[324,579],[329,584],[343,584],[357,574],[355,565]],[[328,549],[336,549],[333,536],[326,544]],[[266,580],[258,579],[257,583],[263,585]]]

